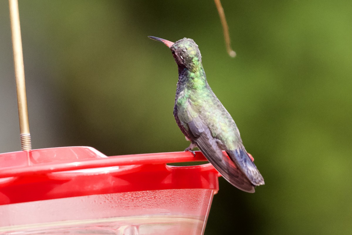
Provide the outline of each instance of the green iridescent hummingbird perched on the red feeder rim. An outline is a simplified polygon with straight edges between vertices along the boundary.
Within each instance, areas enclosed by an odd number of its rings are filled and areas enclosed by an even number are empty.
[[[254,193],[254,187],[263,185],[264,179],[243,146],[233,118],[207,82],[198,45],[190,38],[175,43],[149,38],[168,46],[178,67],[174,117],[191,142],[185,151],[198,147],[230,184]]]

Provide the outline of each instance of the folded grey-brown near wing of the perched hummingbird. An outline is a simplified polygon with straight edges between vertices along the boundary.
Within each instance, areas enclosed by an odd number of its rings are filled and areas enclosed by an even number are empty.
[[[188,103],[188,102],[187,102]],[[230,184],[245,192],[254,193],[254,186],[243,172],[236,168],[234,163],[222,153],[218,140],[214,138],[201,117],[197,115],[188,103],[184,109],[179,110],[178,115],[182,125],[188,129],[190,141],[206,156],[215,169]]]

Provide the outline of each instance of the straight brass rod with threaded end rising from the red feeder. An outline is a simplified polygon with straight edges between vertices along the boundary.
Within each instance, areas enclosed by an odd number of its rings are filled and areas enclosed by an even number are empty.
[[[16,78],[18,117],[20,122],[21,149],[31,150],[31,135],[29,132],[18,0],[9,0],[8,2],[10,6],[12,49]]]

